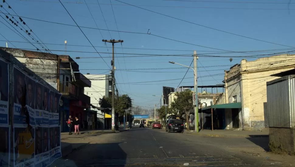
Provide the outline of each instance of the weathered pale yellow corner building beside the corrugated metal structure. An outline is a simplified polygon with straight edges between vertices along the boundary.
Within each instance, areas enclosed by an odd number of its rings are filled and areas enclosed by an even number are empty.
[[[278,77],[270,76],[278,72],[295,68],[295,55],[275,55],[258,58],[254,61],[241,60],[225,71],[225,101],[226,103],[241,102],[241,109],[235,114],[243,130],[259,130],[268,127],[266,108],[266,82]],[[226,111],[227,129],[232,117],[232,111]],[[232,119],[234,120],[234,119]],[[231,125],[232,126],[232,125]]]

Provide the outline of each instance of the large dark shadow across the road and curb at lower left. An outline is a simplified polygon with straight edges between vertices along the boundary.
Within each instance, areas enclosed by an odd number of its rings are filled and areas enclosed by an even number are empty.
[[[64,143],[80,149],[56,159],[49,167],[80,167],[80,166],[125,166],[127,154],[121,149],[120,143]],[[86,144],[86,145],[85,145]]]

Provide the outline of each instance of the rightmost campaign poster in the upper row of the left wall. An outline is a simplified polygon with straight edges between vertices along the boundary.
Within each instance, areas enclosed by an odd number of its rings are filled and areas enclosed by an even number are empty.
[[[61,99],[61,94],[50,91],[49,95],[49,126],[54,127],[59,124],[58,102]]]

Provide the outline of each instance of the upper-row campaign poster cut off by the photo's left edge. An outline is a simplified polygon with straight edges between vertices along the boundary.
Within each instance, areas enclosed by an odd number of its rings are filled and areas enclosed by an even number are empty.
[[[8,125],[9,65],[0,59],[0,124]]]

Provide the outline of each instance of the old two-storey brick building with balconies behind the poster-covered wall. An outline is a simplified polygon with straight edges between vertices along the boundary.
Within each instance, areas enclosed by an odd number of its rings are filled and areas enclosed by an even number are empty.
[[[79,65],[69,55],[13,48],[2,49],[12,54],[62,94],[59,103],[62,132],[68,131],[66,121],[69,115],[79,118],[80,129],[87,129],[90,97],[84,94],[84,88],[91,87],[91,81],[79,73]]]

